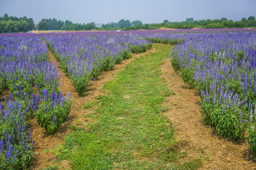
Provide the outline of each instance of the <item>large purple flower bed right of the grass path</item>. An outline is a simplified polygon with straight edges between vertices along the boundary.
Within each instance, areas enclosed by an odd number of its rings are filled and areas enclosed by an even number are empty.
[[[183,36],[172,65],[201,94],[203,120],[233,140],[248,132],[256,153],[256,32]]]

